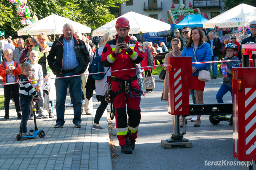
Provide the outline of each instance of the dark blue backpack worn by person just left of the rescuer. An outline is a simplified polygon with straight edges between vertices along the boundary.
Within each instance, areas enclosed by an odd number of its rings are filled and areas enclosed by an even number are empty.
[[[96,49],[95,53],[96,53],[96,57],[93,59],[90,72],[91,73],[104,72],[104,66],[101,63],[101,55],[98,55],[98,49]],[[109,71],[109,68],[107,71]],[[105,75],[106,73],[99,73],[99,74],[93,74],[92,77],[94,80],[101,80],[104,78]]]

